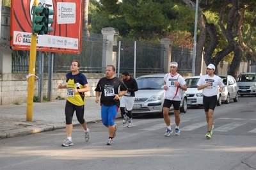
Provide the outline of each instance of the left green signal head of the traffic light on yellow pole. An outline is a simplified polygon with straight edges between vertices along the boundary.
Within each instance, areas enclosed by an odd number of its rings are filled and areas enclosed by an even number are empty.
[[[45,27],[45,13],[47,9],[42,6],[33,6],[33,19],[32,19],[32,33],[43,35],[44,31],[46,30]]]

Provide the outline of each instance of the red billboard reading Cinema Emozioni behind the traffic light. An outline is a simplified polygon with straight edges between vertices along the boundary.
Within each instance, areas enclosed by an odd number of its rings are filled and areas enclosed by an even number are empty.
[[[36,50],[44,52],[81,52],[83,0],[38,0],[38,6],[54,11],[53,31],[36,36]],[[34,0],[12,0],[11,42],[13,50],[30,50]],[[50,26],[50,25],[49,25]]]

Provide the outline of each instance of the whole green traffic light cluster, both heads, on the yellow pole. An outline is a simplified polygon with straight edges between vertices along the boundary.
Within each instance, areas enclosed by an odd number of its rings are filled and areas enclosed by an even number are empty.
[[[46,35],[53,31],[49,24],[53,23],[53,19],[49,15],[54,15],[54,11],[43,6],[33,6],[32,33],[38,35]]]

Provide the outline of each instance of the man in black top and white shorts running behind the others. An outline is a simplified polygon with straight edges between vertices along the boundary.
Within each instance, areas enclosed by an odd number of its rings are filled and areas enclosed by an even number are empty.
[[[138,91],[138,84],[136,80],[129,75],[129,72],[124,71],[122,73],[122,78],[125,86],[128,88],[127,93],[122,97],[120,104],[121,114],[124,116],[123,125],[126,124],[128,120],[127,127],[132,127],[132,107],[134,105],[135,91]],[[127,114],[125,113],[125,108]]]

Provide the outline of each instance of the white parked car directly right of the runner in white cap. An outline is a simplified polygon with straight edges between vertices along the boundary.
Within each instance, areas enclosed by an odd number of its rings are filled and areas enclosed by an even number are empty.
[[[229,104],[230,99],[234,100],[234,102],[238,101],[238,87],[236,80],[231,75],[218,75],[223,83],[225,84],[223,91],[221,93],[221,101],[225,102],[225,104]]]

